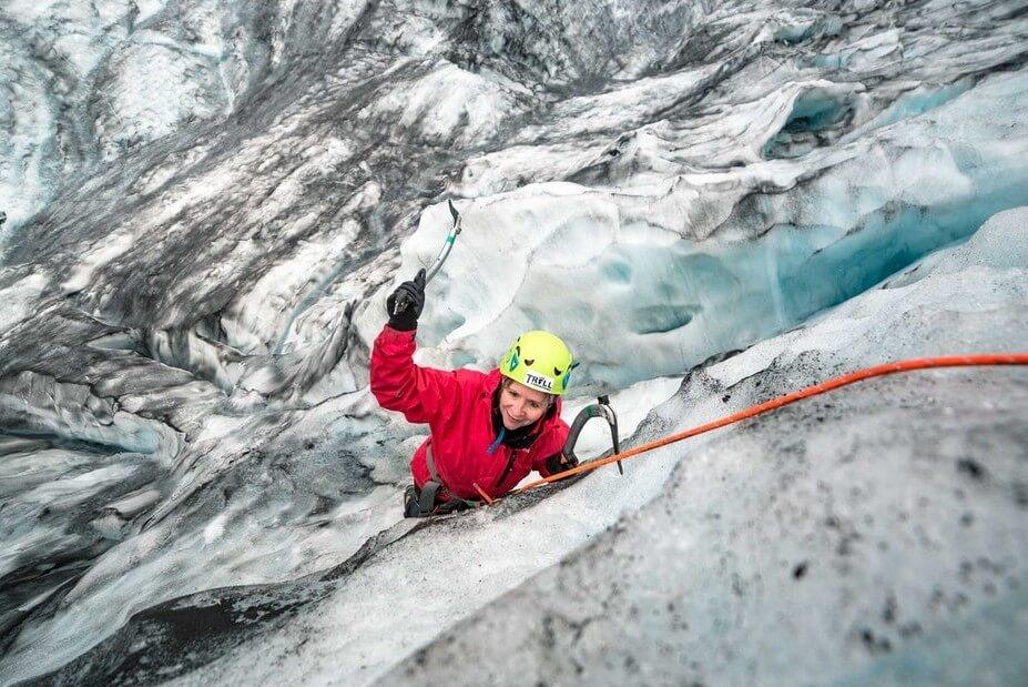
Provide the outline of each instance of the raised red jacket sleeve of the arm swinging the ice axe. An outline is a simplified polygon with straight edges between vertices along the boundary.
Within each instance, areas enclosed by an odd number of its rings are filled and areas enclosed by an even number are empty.
[[[459,397],[452,372],[414,363],[416,331],[385,326],[371,348],[371,394],[387,411],[399,411],[413,423],[430,423]]]

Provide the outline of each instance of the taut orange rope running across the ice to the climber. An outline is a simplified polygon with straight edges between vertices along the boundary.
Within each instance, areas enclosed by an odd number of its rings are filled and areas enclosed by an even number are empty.
[[[866,367],[864,370],[857,370],[856,372],[851,372],[849,374],[844,374],[841,377],[835,377],[834,380],[828,380],[827,382],[822,382],[821,384],[815,384],[814,386],[807,386],[806,388],[801,388],[797,392],[791,394],[785,394],[784,396],[778,396],[777,398],[772,398],[759,405],[751,406],[749,408],[742,410],[732,415],[727,415],[720,420],[709,422],[705,425],[700,425],[699,427],[693,427],[692,430],[685,430],[684,432],[679,432],[678,434],[670,434],[663,438],[649,442],[647,444],[641,444],[634,448],[623,451],[621,453],[608,456],[605,458],[600,458],[598,461],[591,461],[589,463],[579,465],[578,467],[572,467],[569,471],[558,473],[550,477],[543,477],[537,479],[536,482],[530,482],[525,486],[515,489],[511,494],[521,494],[529,489],[533,489],[538,486],[549,484],[551,482],[558,482],[560,479],[567,479],[568,477],[573,477],[574,475],[580,475],[582,473],[597,469],[598,467],[603,467],[604,465],[610,465],[611,463],[617,463],[619,461],[624,461],[638,456],[641,453],[648,451],[653,451],[654,448],[660,448],[661,446],[666,446],[668,444],[673,444],[674,442],[681,442],[698,434],[704,434],[705,432],[712,432],[713,430],[720,430],[725,425],[731,425],[733,423],[780,408],[783,405],[788,405],[790,403],[795,403],[801,398],[807,398],[810,396],[816,396],[817,394],[823,394],[833,388],[838,388],[839,386],[846,386],[847,384],[853,384],[862,380],[867,380],[869,377],[878,377],[887,374],[895,374],[897,372],[908,372],[910,370],[925,370],[927,367],[963,367],[967,365],[1028,365],[1028,353],[984,353],[978,355],[948,355],[942,357],[918,357],[908,361],[897,361],[895,363],[885,363],[883,365],[875,365],[874,367]],[[498,501],[498,499],[493,499]]]

